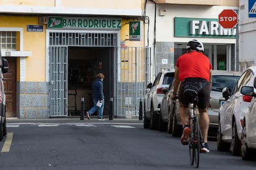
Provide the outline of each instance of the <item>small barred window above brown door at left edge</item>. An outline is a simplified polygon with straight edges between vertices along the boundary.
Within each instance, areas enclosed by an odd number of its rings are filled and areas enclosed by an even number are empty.
[[[0,31],[0,45],[2,50],[16,50],[16,32]]]

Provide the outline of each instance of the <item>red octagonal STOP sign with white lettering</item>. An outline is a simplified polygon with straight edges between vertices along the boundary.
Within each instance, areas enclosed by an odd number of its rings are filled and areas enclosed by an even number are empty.
[[[225,9],[219,14],[218,22],[223,28],[234,28],[238,22],[238,16],[232,9]]]

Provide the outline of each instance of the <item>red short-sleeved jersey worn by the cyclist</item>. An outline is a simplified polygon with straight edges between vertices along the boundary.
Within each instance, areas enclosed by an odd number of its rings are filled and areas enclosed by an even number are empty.
[[[203,78],[210,81],[210,60],[201,52],[192,51],[181,55],[177,59],[176,67],[179,68],[179,81],[186,78]]]

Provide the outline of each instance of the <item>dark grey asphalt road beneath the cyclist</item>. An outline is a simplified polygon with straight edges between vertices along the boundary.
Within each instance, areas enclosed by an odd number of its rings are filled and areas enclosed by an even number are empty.
[[[256,161],[217,152],[215,140],[209,145],[200,169],[256,167]],[[194,169],[179,138],[143,129],[137,119],[9,120],[0,150],[0,169]]]

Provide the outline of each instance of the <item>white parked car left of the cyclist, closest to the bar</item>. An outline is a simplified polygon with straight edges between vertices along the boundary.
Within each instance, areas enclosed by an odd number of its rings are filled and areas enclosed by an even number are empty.
[[[169,84],[173,82],[173,79],[174,70],[163,69],[158,73],[153,83],[147,84],[149,91],[145,95],[144,102],[144,128],[153,130],[158,129],[160,105],[164,97],[162,89],[164,87],[169,87]]]

